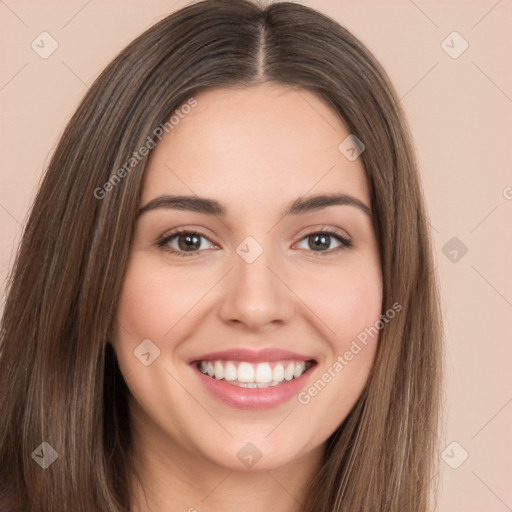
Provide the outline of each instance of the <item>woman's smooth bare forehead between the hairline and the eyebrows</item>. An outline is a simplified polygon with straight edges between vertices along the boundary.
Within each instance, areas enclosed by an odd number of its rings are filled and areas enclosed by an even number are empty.
[[[350,132],[314,93],[263,84],[194,98],[153,150],[142,202],[192,193],[247,209],[343,192],[369,205],[361,158],[350,161],[339,150]]]

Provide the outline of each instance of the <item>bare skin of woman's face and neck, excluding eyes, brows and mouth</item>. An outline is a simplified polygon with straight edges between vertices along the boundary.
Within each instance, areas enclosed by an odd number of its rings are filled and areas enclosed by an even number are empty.
[[[297,198],[322,193],[371,207],[364,167],[339,151],[350,132],[311,92],[264,84],[196,99],[154,149],[140,206],[162,194],[197,195],[228,213],[159,208],[137,220],[112,339],[132,394],[142,481],[133,480],[133,510],[296,511],[325,441],[363,390],[378,337],[309,403],[294,396],[263,410],[219,401],[186,361],[239,346],[288,349],[317,361],[307,390],[379,319],[382,277],[370,216],[350,205],[280,216]],[[177,227],[199,230],[200,250],[180,257],[159,247]],[[325,228],[352,247],[330,237],[315,251],[307,235]],[[252,263],[236,252],[247,236],[263,248]],[[179,240],[167,249],[179,251]],[[144,366],[134,350],[148,338],[160,355]],[[247,442],[262,454],[252,468],[237,457]]]

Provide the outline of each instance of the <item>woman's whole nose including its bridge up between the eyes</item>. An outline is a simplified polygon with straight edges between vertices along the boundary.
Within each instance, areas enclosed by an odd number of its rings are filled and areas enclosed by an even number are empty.
[[[292,298],[277,277],[281,267],[279,255],[268,238],[265,242],[249,236],[237,246],[231,283],[221,308],[224,321],[254,328],[286,321],[290,316]]]

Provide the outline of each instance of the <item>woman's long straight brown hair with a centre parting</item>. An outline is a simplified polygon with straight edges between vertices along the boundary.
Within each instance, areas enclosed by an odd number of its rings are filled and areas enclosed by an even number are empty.
[[[327,442],[304,510],[429,509],[441,314],[397,96],[372,54],[329,17],[289,2],[207,0],[158,22],[107,66],[45,173],[1,324],[0,510],[130,510],[128,389],[108,339],[148,156],[128,170],[126,162],[192,96],[268,81],[316,93],[363,142],[382,311],[402,306],[380,333],[362,395]],[[32,455],[42,442],[58,454],[45,470]]]

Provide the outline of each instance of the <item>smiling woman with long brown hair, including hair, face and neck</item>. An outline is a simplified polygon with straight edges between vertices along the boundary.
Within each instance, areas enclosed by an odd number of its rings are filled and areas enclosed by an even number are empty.
[[[96,80],[33,205],[0,509],[427,511],[440,347],[385,72],[310,8],[190,5]]]

